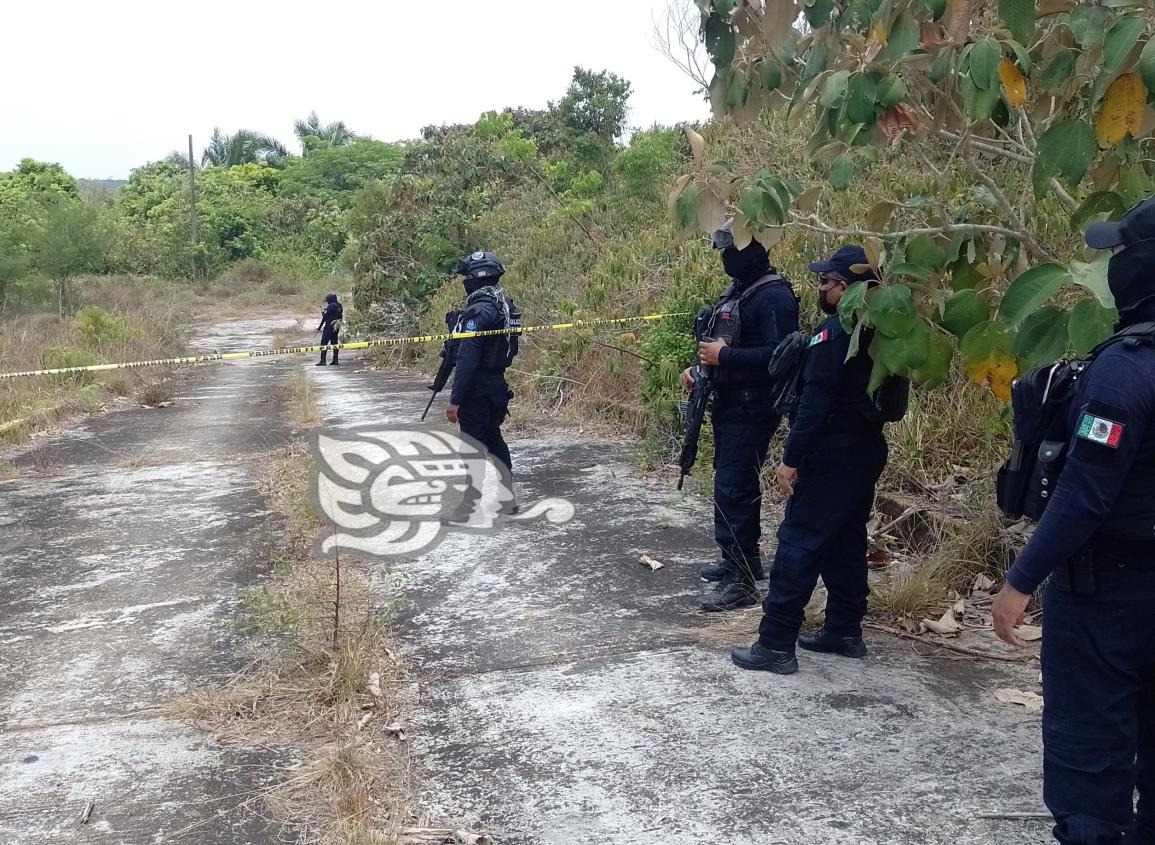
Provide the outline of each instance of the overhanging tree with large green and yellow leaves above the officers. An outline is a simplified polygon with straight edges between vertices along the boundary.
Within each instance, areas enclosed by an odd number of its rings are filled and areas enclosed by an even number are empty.
[[[1026,367],[1110,331],[1106,262],[1079,261],[1079,235],[1155,188],[1152,0],[696,2],[715,113],[808,112],[810,163],[737,173],[688,130],[675,217],[710,229],[732,212],[739,244],[784,226],[862,240],[884,284],[851,287],[841,311],[875,330],[873,384],[938,384],[957,345],[1007,397]],[[867,188],[896,159],[922,187]],[[864,217],[835,223],[839,194],[866,189]]]

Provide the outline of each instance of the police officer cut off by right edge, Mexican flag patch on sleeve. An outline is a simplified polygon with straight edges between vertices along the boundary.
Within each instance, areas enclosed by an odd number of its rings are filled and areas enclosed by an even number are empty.
[[[1093,225],[1119,329],[1155,321],[1155,197]],[[1021,645],[1043,604],[1043,798],[1068,845],[1155,844],[1155,347],[1120,339],[1076,382],[1055,494],[994,601]],[[1134,805],[1139,793],[1138,810]]]

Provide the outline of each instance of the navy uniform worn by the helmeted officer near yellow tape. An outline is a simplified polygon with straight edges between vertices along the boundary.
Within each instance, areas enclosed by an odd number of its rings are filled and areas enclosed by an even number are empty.
[[[460,326],[461,331],[508,328],[495,297],[484,289],[467,299]],[[505,379],[508,343],[506,335],[469,337],[457,342],[450,402],[459,406],[461,431],[483,443],[493,457],[512,470],[509,447],[501,436],[501,424],[509,413],[511,394]]]

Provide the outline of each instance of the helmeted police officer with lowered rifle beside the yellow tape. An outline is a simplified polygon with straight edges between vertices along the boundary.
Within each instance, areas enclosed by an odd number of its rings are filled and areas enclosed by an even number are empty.
[[[457,262],[465,285],[465,307],[456,331],[492,331],[521,328],[521,314],[506,296],[500,279],[505,267],[493,253],[477,252]],[[446,418],[513,469],[501,424],[509,412],[509,386],[505,371],[517,354],[512,334],[462,338],[456,350],[456,371]]]

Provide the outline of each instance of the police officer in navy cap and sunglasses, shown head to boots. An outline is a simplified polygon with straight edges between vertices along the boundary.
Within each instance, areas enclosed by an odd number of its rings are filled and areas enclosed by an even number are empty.
[[[795,644],[812,651],[864,657],[866,522],[887,447],[874,402],[866,392],[873,367],[870,338],[849,360],[850,336],[837,317],[839,301],[855,282],[877,283],[862,247],[845,246],[810,266],[819,275],[819,302],[829,316],[811,337],[802,392],[776,480],[789,496],[762,603],[758,642],[735,649],[743,668],[791,674]],[[818,577],[829,593],[826,626],[798,636]]]

